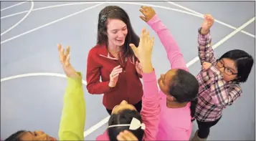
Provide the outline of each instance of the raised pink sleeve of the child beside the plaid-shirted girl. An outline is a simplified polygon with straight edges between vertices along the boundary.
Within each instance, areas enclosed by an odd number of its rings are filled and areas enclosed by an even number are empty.
[[[164,49],[166,49],[167,57],[171,64],[171,69],[185,69],[188,71],[186,62],[181,54],[178,44],[174,40],[174,37],[171,35],[169,29],[166,28],[158,16],[153,16],[153,18],[149,20],[147,24],[151,26],[154,31],[156,31],[156,34],[158,34]]]

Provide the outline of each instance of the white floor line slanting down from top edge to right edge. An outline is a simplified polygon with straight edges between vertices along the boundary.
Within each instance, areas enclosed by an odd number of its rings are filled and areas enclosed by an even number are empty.
[[[171,5],[177,6],[177,7],[181,8],[181,9],[186,10],[186,11],[190,11],[190,12],[192,12],[192,13],[194,13],[194,14],[198,14],[199,16],[204,16],[204,14],[201,14],[201,13],[199,13],[199,12],[197,12],[197,11],[194,11],[194,10],[192,10],[192,9],[189,9],[189,8],[187,8],[187,7],[185,7],[185,6],[181,6],[181,5],[176,4],[176,3],[172,2],[172,1],[167,1],[167,0],[165,0],[165,1],[166,1],[167,3],[169,3],[169,4],[171,4]],[[226,23],[224,23],[224,22],[222,22],[222,21],[219,21],[219,20],[217,20],[217,19],[214,19],[214,22],[217,22],[217,23],[219,23],[219,24],[222,24],[222,25],[224,25],[224,26],[227,26],[227,27],[229,27],[230,29],[237,29],[236,27],[231,26],[231,25],[229,25],[229,24],[226,24]],[[247,34],[248,36],[255,38],[255,35],[254,35],[254,34],[250,34],[250,33],[247,32],[247,31],[241,31],[241,32],[242,32],[243,34]]]

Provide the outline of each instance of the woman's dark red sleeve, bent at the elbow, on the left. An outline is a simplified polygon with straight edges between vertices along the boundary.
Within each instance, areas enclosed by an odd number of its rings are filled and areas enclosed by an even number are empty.
[[[95,53],[90,50],[87,57],[87,90],[90,94],[104,94],[115,88],[110,88],[108,82],[100,82],[100,64],[95,61]]]

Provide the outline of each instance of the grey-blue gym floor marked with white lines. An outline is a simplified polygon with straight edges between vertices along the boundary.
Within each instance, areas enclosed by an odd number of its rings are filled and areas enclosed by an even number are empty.
[[[98,13],[108,5],[125,9],[137,34],[145,26],[156,37],[153,66],[158,77],[170,64],[157,35],[138,17],[141,5],[155,9],[194,75],[201,68],[197,29],[203,14],[215,18],[211,31],[216,57],[231,49],[255,57],[255,1],[1,1],[1,139],[17,130],[43,130],[58,137],[67,81],[57,43],[70,45],[71,63],[85,80],[87,52],[96,44]],[[88,94],[83,84],[85,140],[95,140],[107,127],[108,113],[103,95]],[[255,66],[242,89],[242,97],[212,127],[209,140],[255,140]],[[194,122],[192,135],[196,130]]]

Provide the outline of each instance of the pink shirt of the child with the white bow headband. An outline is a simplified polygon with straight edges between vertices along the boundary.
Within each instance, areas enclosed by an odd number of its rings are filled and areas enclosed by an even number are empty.
[[[160,107],[160,97],[156,81],[155,71],[142,74],[143,79],[143,97],[141,117],[146,125],[144,140],[156,140],[158,132],[158,122]],[[107,130],[103,135],[99,135],[96,140],[109,140]]]

